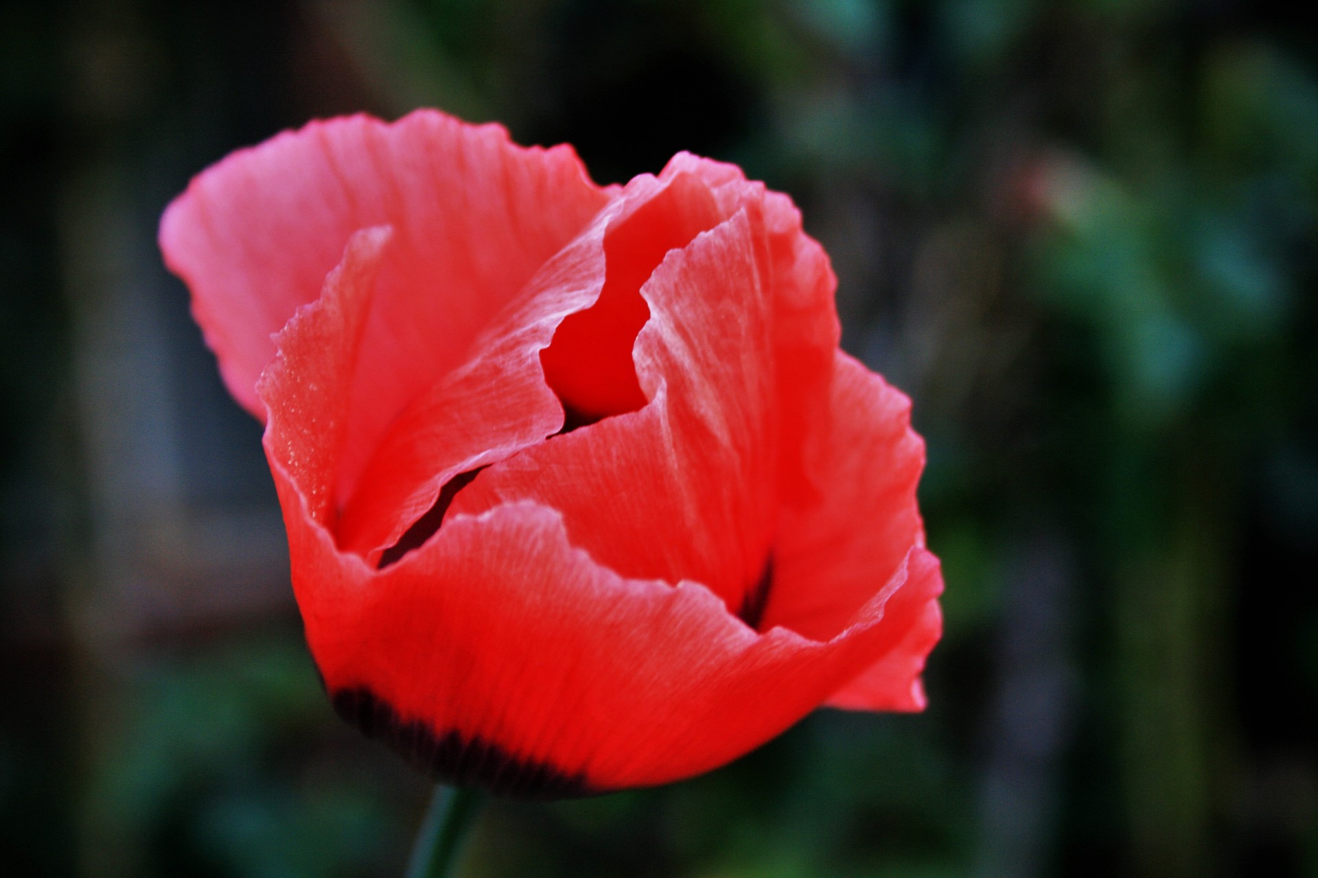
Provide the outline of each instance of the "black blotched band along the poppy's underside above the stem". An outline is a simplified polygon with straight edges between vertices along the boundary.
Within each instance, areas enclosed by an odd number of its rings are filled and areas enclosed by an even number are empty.
[[[435,781],[518,799],[569,799],[604,792],[590,787],[583,774],[521,758],[480,736],[456,729],[439,733],[423,720],[405,720],[364,686],[333,691],[330,700],[347,723],[382,741]]]

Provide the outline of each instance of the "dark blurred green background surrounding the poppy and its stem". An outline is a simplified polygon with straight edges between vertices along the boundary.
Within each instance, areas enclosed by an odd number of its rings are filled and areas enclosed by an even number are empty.
[[[1318,34],[1249,0],[0,7],[0,871],[401,874],[260,430],[161,266],[188,176],[436,105],[789,192],[916,400],[920,716],[494,803],[469,877],[1318,875]]]

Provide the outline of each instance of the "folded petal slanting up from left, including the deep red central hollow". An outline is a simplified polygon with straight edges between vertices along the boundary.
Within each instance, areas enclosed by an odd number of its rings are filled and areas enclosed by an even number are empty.
[[[641,283],[671,247],[720,219],[689,175],[629,183],[490,323],[473,359],[394,420],[344,507],[340,548],[373,563],[449,479],[558,432],[564,407],[579,423],[633,407],[626,383],[641,394],[631,363],[641,324],[631,319],[635,308],[642,323],[648,316]]]

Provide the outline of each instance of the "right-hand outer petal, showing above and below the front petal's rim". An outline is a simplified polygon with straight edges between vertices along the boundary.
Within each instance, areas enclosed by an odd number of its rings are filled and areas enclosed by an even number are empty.
[[[924,546],[916,483],[924,442],[911,429],[911,400],[851,357],[838,353],[828,429],[807,446],[824,491],[804,507],[784,507],[774,552],[775,582],[764,625],[807,637],[836,636],[907,557]],[[920,710],[919,675],[941,631],[941,578],[890,599],[904,621],[902,642],[830,703],[865,710]]]

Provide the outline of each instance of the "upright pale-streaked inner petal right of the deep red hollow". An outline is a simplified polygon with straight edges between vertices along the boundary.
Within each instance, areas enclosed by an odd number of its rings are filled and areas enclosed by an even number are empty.
[[[648,404],[529,448],[453,504],[534,500],[625,577],[704,583],[738,612],[763,578],[776,516],[772,307],[745,211],[672,250],[641,288]]]

